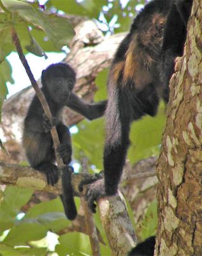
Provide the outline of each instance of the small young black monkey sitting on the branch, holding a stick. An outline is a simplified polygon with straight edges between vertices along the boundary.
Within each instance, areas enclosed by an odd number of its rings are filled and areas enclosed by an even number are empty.
[[[59,179],[55,165],[55,150],[50,129],[55,125],[61,145],[57,148],[64,164],[71,161],[71,136],[69,129],[62,123],[64,106],[77,111],[92,120],[103,115],[106,101],[87,104],[72,92],[76,81],[73,68],[64,63],[50,65],[43,70],[41,83],[45,98],[53,116],[50,122],[43,112],[40,100],[35,95],[24,120],[23,146],[31,166],[47,176],[48,184],[54,185]],[[69,220],[76,217],[76,206],[71,188],[72,168],[67,166],[62,172],[62,203]]]

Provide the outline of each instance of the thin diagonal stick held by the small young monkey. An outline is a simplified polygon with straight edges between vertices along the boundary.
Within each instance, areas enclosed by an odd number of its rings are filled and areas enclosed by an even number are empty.
[[[47,100],[45,99],[45,96],[44,96],[43,92],[41,92],[40,86],[38,86],[38,83],[34,79],[34,76],[31,72],[29,64],[27,63],[27,60],[26,60],[26,58],[24,56],[24,53],[22,51],[22,46],[20,44],[20,40],[18,38],[17,32],[15,31],[15,28],[13,26],[11,26],[10,32],[11,32],[11,37],[12,37],[12,40],[13,40],[13,44],[15,44],[15,47],[17,49],[18,56],[19,56],[19,58],[22,62],[22,65],[24,65],[25,71],[27,72],[27,76],[29,77],[29,79],[31,81],[32,87],[34,88],[34,91],[36,92],[36,95],[37,95],[38,99],[41,102],[41,106],[43,107],[45,115],[47,115],[48,118],[50,120],[52,120],[52,114],[50,112],[50,108],[48,107]],[[50,132],[51,132],[51,135],[52,135],[52,138],[53,138],[53,141],[54,141],[54,148],[56,149],[56,148],[59,147],[60,142],[59,142],[59,137],[58,137],[57,130],[56,130],[55,126],[52,127]],[[59,156],[57,156],[57,154],[55,154],[55,155],[56,155],[58,166],[59,167],[63,166],[62,159]]]

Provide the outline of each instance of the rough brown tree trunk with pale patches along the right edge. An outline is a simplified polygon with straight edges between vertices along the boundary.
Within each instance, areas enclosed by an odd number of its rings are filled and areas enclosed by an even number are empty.
[[[155,255],[202,255],[201,18],[201,1],[194,1],[184,56],[170,83],[168,120],[157,166]]]

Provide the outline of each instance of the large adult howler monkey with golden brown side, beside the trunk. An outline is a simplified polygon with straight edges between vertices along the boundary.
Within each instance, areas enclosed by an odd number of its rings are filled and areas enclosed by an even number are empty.
[[[90,209],[101,196],[117,192],[129,147],[131,122],[155,116],[159,99],[169,99],[175,58],[182,56],[192,0],[153,0],[136,16],[113,58],[108,77],[104,179],[89,184]],[[83,181],[80,184],[87,184]],[[155,239],[145,241],[155,244]],[[153,253],[154,254],[154,253]],[[130,255],[140,253],[136,248]]]

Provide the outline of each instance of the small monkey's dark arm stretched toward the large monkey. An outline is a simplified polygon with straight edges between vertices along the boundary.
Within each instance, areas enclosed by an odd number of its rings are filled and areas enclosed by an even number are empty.
[[[85,116],[89,120],[93,120],[103,116],[106,109],[106,103],[107,100],[97,103],[86,103],[72,92],[66,106]]]

